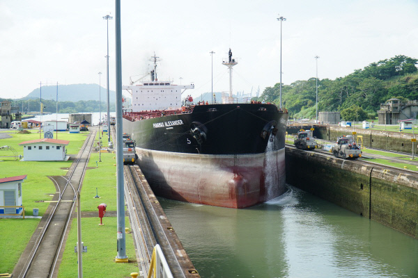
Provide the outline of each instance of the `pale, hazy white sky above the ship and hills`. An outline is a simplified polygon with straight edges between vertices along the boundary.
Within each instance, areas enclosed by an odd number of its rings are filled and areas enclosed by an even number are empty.
[[[0,97],[19,99],[40,82],[105,87],[102,17],[114,10],[108,0],[0,0]],[[229,48],[238,60],[234,93],[255,94],[279,83],[280,60],[286,85],[315,77],[315,56],[318,78],[335,79],[396,55],[418,58],[417,15],[417,0],[123,0],[122,83],[149,72],[155,53],[162,59],[160,80],[194,83],[187,95],[212,90],[212,66],[213,91],[228,92],[222,59]],[[116,90],[114,19],[109,57],[109,88]]]

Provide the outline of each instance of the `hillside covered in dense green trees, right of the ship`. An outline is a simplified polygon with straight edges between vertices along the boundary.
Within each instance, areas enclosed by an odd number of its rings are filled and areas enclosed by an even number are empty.
[[[367,118],[377,116],[380,104],[392,97],[403,101],[418,99],[417,61],[400,55],[371,63],[345,77],[318,80],[318,111],[348,109],[360,111]],[[279,86],[277,83],[265,88],[258,100],[279,104]],[[291,117],[315,117],[315,78],[282,84],[281,92],[282,104]]]

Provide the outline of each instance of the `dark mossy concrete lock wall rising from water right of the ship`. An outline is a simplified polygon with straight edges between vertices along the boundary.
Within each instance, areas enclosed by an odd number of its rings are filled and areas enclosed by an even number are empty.
[[[286,182],[418,238],[415,174],[286,148]]]

